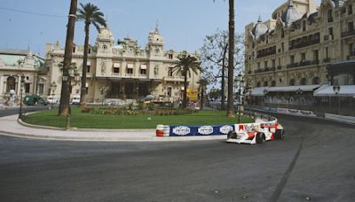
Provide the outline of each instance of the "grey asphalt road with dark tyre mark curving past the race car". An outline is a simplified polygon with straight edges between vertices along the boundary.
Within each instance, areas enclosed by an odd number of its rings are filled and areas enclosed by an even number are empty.
[[[0,200],[353,201],[355,127],[278,116],[263,145],[0,136]]]

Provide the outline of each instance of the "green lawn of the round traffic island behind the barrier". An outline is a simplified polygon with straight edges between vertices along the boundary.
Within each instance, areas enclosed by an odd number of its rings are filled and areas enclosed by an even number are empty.
[[[35,125],[65,128],[66,117],[57,116],[58,109],[28,114],[25,122]],[[238,117],[228,118],[225,111],[201,111],[188,115],[104,115],[81,113],[79,107],[72,108],[72,128],[156,128],[156,125],[218,125],[237,123]],[[248,117],[241,117],[241,122],[251,122]]]

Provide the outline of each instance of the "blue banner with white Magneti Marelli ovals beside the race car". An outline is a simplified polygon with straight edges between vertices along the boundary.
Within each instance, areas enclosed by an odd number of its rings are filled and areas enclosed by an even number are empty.
[[[170,136],[221,136],[234,130],[234,125],[170,126]]]

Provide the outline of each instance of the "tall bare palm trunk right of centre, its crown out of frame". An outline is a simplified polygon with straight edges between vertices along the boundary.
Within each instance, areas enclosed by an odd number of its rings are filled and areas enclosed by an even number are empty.
[[[234,0],[229,0],[229,57],[228,57],[228,99],[227,116],[234,117],[233,77],[234,77]]]

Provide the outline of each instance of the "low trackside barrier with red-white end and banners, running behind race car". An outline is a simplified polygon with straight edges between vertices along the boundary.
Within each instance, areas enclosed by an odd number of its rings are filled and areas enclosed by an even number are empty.
[[[157,125],[156,136],[225,136],[229,131],[240,130],[249,125],[260,125],[260,123],[275,124],[277,119],[275,117],[253,113],[256,119],[255,123],[241,123],[241,124],[225,124],[225,125],[202,125],[202,126],[168,126]],[[241,128],[242,127],[242,128]]]

